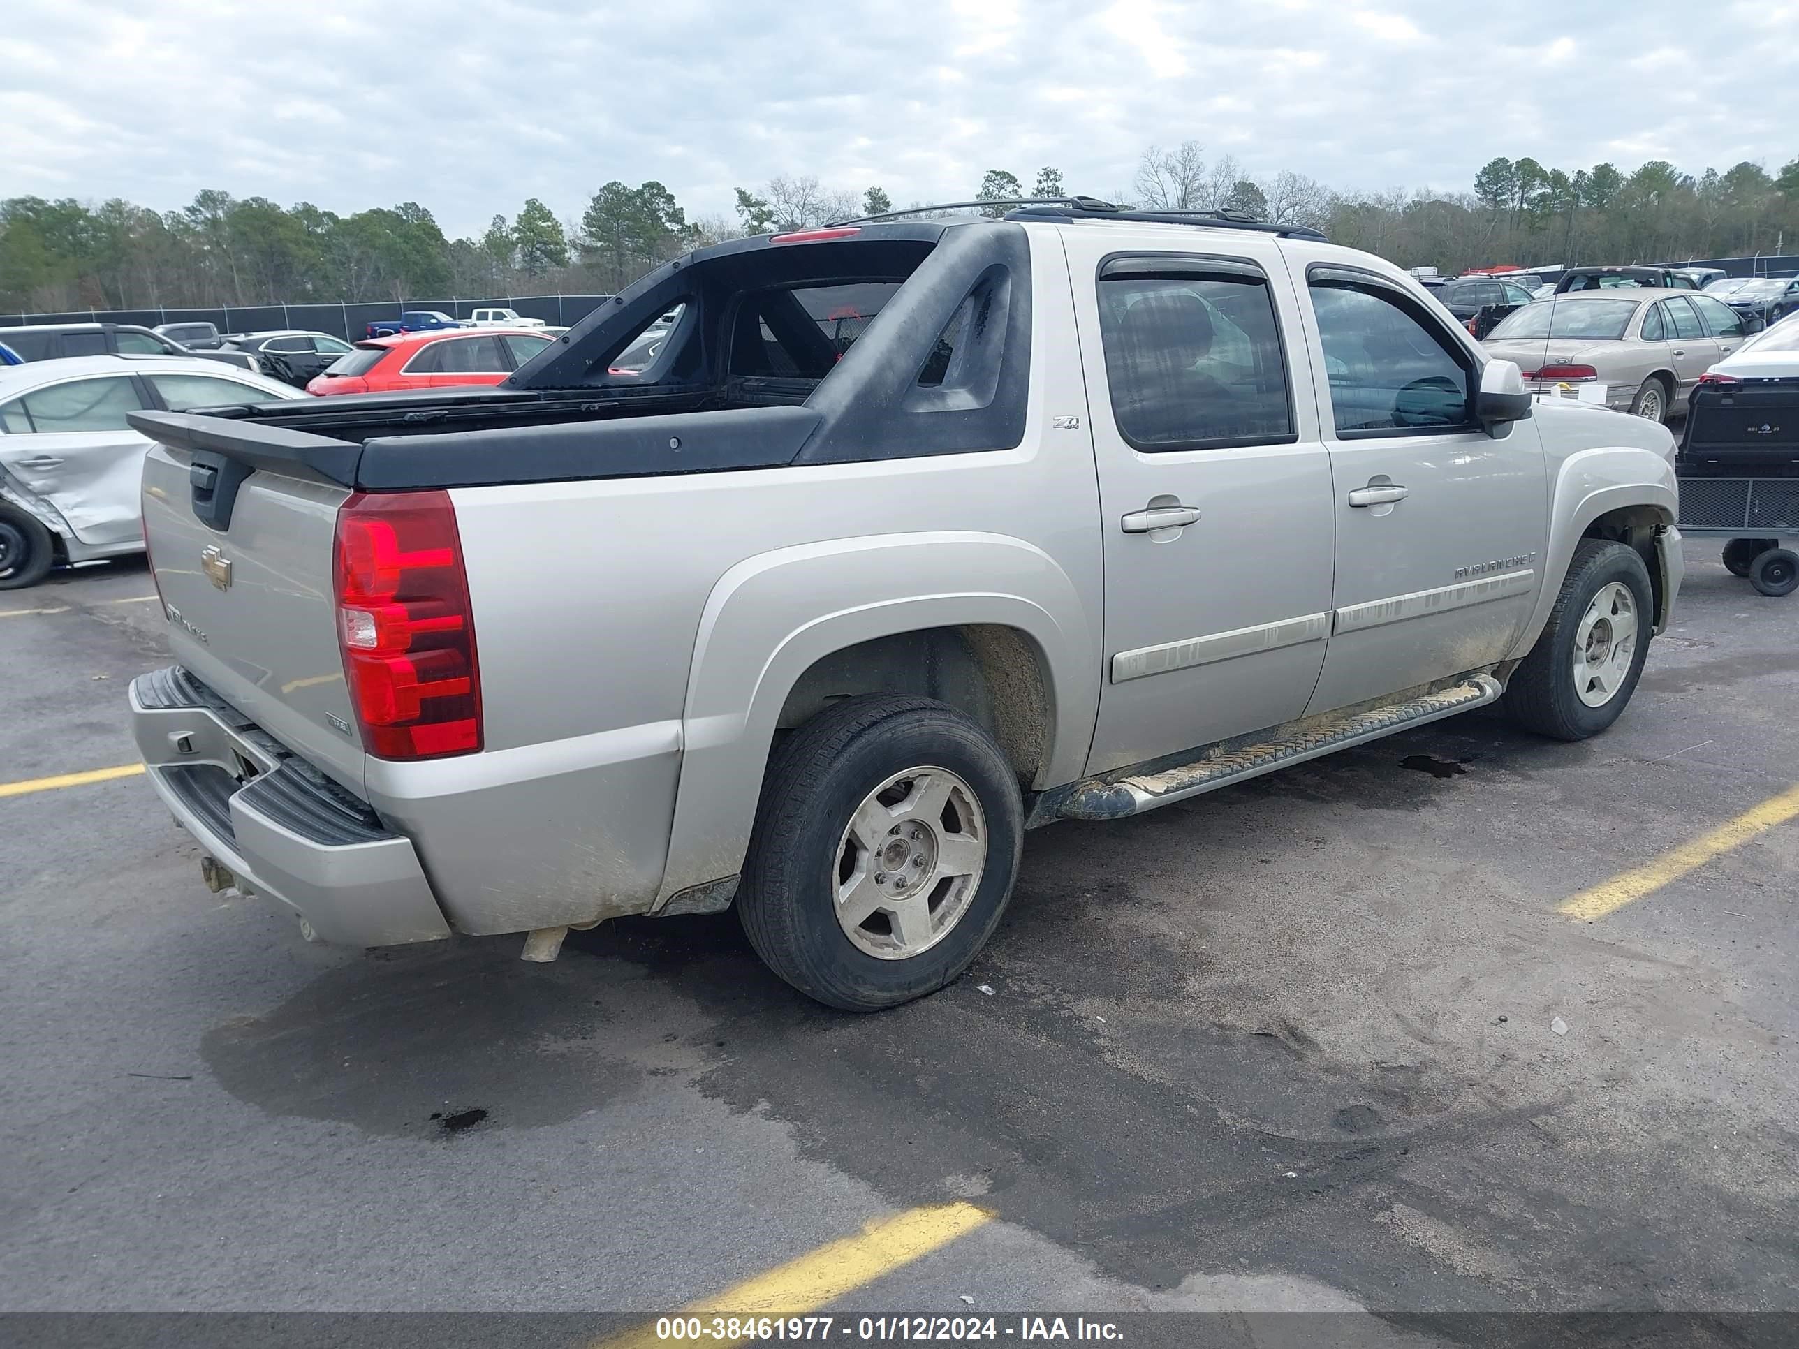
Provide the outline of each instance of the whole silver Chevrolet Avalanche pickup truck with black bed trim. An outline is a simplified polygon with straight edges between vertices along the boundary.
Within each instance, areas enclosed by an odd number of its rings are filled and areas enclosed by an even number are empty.
[[[966,969],[1031,826],[1605,730],[1680,586],[1662,426],[1378,257],[1087,198],[703,248],[497,389],[131,421],[212,885],[534,959],[736,905],[846,1009]]]

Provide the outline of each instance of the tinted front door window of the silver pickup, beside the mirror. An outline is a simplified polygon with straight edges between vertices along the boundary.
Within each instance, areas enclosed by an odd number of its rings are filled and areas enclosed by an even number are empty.
[[[1473,424],[1472,362],[1446,333],[1382,286],[1313,281],[1310,290],[1340,435]]]

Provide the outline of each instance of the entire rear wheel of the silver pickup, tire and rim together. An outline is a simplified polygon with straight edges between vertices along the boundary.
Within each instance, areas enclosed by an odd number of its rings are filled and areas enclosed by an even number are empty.
[[[878,1011],[961,975],[1018,872],[1024,802],[1000,748],[943,703],[851,698],[768,766],[738,917],[801,993]]]

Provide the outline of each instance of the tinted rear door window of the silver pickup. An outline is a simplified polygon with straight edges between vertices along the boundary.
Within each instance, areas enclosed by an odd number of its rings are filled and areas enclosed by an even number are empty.
[[[1137,450],[1293,439],[1274,297],[1259,277],[1101,277],[1099,335],[1112,415]]]

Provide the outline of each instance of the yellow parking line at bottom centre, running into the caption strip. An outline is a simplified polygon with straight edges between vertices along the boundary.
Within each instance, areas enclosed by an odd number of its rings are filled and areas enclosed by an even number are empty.
[[[815,1311],[844,1293],[874,1282],[883,1273],[910,1264],[919,1255],[950,1245],[991,1218],[993,1214],[971,1203],[908,1209],[869,1223],[856,1236],[831,1241],[797,1261],[747,1279],[723,1293],[700,1299],[671,1315],[711,1320],[712,1317],[797,1317]],[[747,1344],[748,1338],[714,1340],[707,1336],[707,1344]],[[666,1342],[657,1338],[655,1326],[642,1326],[617,1338],[597,1342],[594,1349],[646,1349],[662,1344]]]

